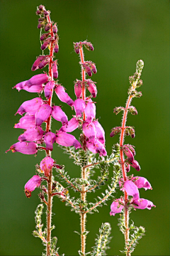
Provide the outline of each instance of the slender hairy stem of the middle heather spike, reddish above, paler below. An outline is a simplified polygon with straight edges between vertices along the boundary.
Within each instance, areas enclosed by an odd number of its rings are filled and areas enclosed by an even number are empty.
[[[82,45],[80,43],[80,59],[81,59],[81,78],[82,78],[82,97],[83,100],[86,100],[86,88],[85,88],[85,83],[84,80],[86,79],[86,75],[85,75],[85,71],[83,69],[83,63],[84,63],[84,52],[83,52],[83,48]],[[83,112],[83,119],[85,121],[86,116],[85,116],[85,112]],[[83,148],[84,151],[86,151],[86,136],[83,134]],[[86,179],[86,167],[82,167],[81,169],[81,178],[83,178],[84,180]],[[86,202],[86,189],[84,187],[84,185],[82,185],[81,187],[81,201],[83,201],[84,203]],[[85,255],[85,250],[86,250],[86,235],[84,235],[84,233],[86,232],[86,213],[84,213],[83,211],[80,213],[80,217],[81,217],[81,252],[83,253],[83,255]]]

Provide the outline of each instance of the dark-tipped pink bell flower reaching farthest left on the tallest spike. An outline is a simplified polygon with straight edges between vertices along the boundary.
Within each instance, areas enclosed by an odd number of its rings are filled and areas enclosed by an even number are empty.
[[[37,144],[35,142],[16,142],[6,152],[11,150],[13,153],[14,152],[20,152],[22,154],[36,154],[38,149],[37,149]]]

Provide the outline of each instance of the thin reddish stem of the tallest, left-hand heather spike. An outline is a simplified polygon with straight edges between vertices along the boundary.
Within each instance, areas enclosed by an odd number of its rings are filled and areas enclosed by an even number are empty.
[[[50,31],[51,36],[53,37],[54,34],[52,32],[52,22],[50,20],[50,15],[47,15],[47,21],[50,23]],[[53,73],[52,73],[52,58],[53,58],[53,41],[50,43],[50,63],[49,63],[49,75],[51,80],[53,80]],[[53,90],[52,90],[53,95]],[[49,98],[47,104],[52,106],[52,95]],[[49,132],[51,128],[51,115],[47,119],[46,124],[46,132]],[[51,151],[46,151],[47,156],[51,156]],[[47,181],[47,256],[50,255],[50,241],[51,241],[51,222],[52,222],[52,170],[50,171],[50,176]]]

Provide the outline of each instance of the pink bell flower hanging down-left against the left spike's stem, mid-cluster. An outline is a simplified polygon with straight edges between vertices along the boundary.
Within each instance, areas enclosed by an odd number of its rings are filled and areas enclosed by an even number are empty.
[[[47,104],[43,104],[40,106],[38,112],[35,114],[35,124],[40,126],[42,122],[48,119],[50,117],[50,114],[52,112],[52,107],[50,107]]]

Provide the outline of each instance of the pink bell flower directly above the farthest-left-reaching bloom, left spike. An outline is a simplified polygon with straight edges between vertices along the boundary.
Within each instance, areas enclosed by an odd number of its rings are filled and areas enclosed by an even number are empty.
[[[37,142],[42,138],[43,134],[44,131],[41,129],[41,127],[30,128],[21,134],[18,137],[18,140],[21,142]]]

